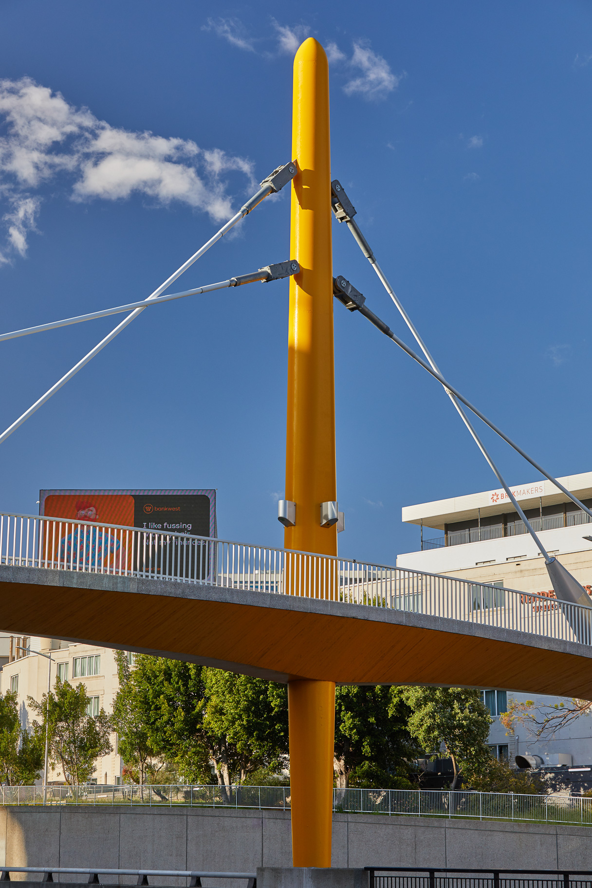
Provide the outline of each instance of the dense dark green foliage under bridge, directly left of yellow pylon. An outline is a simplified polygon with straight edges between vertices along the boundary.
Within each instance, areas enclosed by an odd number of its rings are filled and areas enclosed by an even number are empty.
[[[188,782],[247,781],[288,752],[285,686],[194,663],[138,656],[133,670],[146,700],[147,729]]]

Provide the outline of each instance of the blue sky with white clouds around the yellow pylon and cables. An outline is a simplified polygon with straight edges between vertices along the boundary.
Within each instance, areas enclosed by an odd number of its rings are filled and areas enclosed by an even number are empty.
[[[312,35],[333,175],[439,366],[550,472],[592,467],[589,4],[12,0],[0,24],[4,330],[144,298],[181,265],[288,161]],[[286,259],[288,237],[286,189],[176,289]],[[336,223],[334,267],[409,341]],[[2,343],[3,429],[118,320]],[[3,509],[214,487],[221,536],[281,545],[287,321],[286,282],[144,312],[4,442]],[[393,563],[419,540],[402,505],[498,484],[438,385],[339,305],[335,370],[340,551]],[[511,484],[537,480],[484,437]]]

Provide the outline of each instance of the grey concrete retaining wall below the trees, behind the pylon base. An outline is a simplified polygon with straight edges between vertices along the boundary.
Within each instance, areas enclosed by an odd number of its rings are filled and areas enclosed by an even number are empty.
[[[332,862],[334,867],[592,869],[592,828],[337,813]],[[289,867],[290,817],[282,811],[209,808],[5,807],[0,808],[0,865],[227,872]]]

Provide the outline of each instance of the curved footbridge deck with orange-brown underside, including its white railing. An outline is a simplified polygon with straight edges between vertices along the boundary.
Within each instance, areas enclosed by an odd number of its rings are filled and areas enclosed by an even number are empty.
[[[592,699],[592,608],[357,560],[0,513],[0,628],[278,681]]]

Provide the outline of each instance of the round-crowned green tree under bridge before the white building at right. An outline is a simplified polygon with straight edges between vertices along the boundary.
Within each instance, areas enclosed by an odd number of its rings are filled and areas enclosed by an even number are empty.
[[[484,765],[490,752],[486,745],[493,719],[481,702],[479,692],[462,687],[398,688],[401,698],[411,708],[409,733],[422,744],[426,753],[437,755],[444,744],[452,759],[456,789],[467,765]]]

